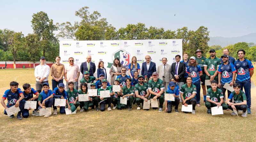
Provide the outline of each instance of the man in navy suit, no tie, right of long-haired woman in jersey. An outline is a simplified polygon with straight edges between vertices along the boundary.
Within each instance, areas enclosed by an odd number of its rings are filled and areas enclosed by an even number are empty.
[[[146,76],[149,78],[153,72],[156,72],[156,63],[151,62],[151,57],[147,55],[145,57],[146,62],[142,63],[142,68],[141,68],[141,75]]]

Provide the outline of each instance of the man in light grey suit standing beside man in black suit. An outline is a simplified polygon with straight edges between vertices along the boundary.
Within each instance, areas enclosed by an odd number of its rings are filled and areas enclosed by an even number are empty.
[[[165,91],[169,85],[170,79],[172,78],[171,74],[171,65],[167,64],[167,58],[162,58],[162,65],[157,67],[158,78],[160,78],[164,82]]]

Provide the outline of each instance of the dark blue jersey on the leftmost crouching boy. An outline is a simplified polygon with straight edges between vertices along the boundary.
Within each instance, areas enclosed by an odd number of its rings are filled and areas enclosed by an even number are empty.
[[[11,89],[6,90],[4,92],[4,95],[2,97],[2,99],[6,100],[7,98],[7,107],[14,105],[19,99],[20,99],[20,95],[23,94],[21,89],[18,88],[16,92],[12,93]]]

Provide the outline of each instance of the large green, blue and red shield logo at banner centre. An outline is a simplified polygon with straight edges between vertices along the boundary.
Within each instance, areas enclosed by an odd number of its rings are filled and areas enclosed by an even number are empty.
[[[131,54],[124,49],[117,50],[115,53],[112,54],[112,60],[114,62],[115,58],[119,58],[120,63],[128,68],[128,65],[130,63]],[[108,62],[108,68],[110,68],[113,65],[113,63]]]

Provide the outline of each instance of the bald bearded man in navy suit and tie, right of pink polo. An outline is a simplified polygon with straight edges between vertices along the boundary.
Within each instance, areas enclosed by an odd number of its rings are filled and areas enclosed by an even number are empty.
[[[83,62],[80,66],[80,71],[83,74],[85,71],[89,71],[89,75],[93,76],[93,74],[96,71],[96,66],[93,62],[91,62],[92,57],[91,56],[87,56],[86,57],[86,62]]]

